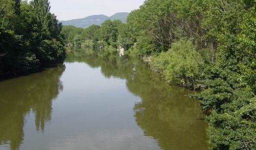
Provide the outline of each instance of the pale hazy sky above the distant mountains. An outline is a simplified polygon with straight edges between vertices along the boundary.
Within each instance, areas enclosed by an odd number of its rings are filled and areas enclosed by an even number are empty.
[[[49,0],[51,12],[59,20],[83,18],[88,15],[112,15],[130,12],[143,4],[144,0]]]

